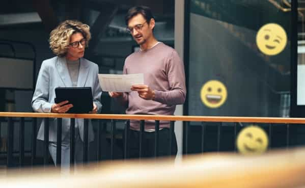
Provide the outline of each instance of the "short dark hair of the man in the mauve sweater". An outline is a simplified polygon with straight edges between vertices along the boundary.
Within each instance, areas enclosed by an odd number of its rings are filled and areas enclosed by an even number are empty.
[[[145,6],[131,7],[125,16],[126,25],[128,25],[128,21],[132,17],[138,14],[142,14],[142,16],[146,19],[147,23],[150,22],[151,18],[154,18],[151,9],[149,7],[145,7]]]

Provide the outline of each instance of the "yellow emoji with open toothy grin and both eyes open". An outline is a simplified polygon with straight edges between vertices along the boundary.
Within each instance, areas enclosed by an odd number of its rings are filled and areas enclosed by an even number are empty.
[[[209,80],[200,92],[202,102],[209,108],[218,108],[227,99],[227,88],[218,80]]]

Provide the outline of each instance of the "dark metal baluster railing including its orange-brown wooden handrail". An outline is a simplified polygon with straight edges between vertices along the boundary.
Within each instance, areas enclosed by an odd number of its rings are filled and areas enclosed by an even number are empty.
[[[268,123],[269,128],[269,138],[272,137],[272,127],[275,124],[281,124],[285,125],[287,132],[286,132],[286,147],[289,147],[290,143],[290,125],[291,124],[305,124],[305,118],[258,118],[258,117],[208,117],[208,116],[151,116],[151,115],[111,115],[111,114],[53,114],[53,113],[7,113],[3,112],[0,113],[0,117],[7,118],[8,121],[8,128],[7,128],[7,135],[8,135],[8,141],[7,141],[7,167],[23,167],[24,166],[24,130],[28,129],[30,127],[25,127],[24,122],[25,118],[32,118],[32,146],[31,146],[31,165],[35,165],[35,158],[36,158],[36,136],[37,136],[37,119],[42,118],[45,121],[45,128],[44,128],[44,149],[43,149],[43,164],[44,166],[48,165],[48,144],[49,144],[49,138],[48,138],[48,127],[49,127],[49,118],[57,118],[57,145],[61,146],[62,143],[62,118],[70,118],[71,119],[71,150],[70,150],[70,164],[71,168],[74,167],[74,152],[75,152],[75,146],[74,146],[74,134],[75,134],[75,119],[84,119],[84,153],[83,153],[83,162],[86,164],[88,163],[88,122],[89,119],[95,119],[98,120],[98,126],[97,126],[97,160],[101,159],[101,153],[102,153],[102,146],[101,146],[101,135],[103,131],[103,121],[110,120],[111,122],[111,130],[110,130],[110,159],[114,159],[114,145],[115,145],[115,135],[116,135],[116,122],[118,120],[126,120],[126,124],[124,127],[123,134],[125,135],[123,137],[124,139],[124,149],[123,149],[123,158],[128,158],[128,131],[130,128],[129,121],[130,120],[140,120],[140,137],[139,137],[139,158],[142,158],[142,148],[143,148],[143,134],[144,134],[144,126],[146,120],[154,120],[155,121],[155,130],[159,130],[159,124],[160,121],[169,121],[170,122],[170,133],[169,138],[172,137],[172,133],[174,132],[174,123],[175,121],[183,121],[184,123],[184,142],[186,145],[184,154],[188,154],[188,148],[187,148],[187,142],[188,142],[188,129],[189,129],[189,122],[201,122],[201,152],[204,152],[204,142],[205,142],[205,132],[206,132],[206,125],[205,122],[217,122],[217,151],[220,151],[220,145],[221,145],[221,127],[223,126],[223,123],[225,122],[233,122],[234,123],[234,140],[237,137],[238,130],[237,127],[239,126],[239,123]],[[17,118],[17,120],[16,120]],[[26,120],[29,121],[29,120]],[[14,139],[14,122],[19,122],[20,126],[20,137],[19,137],[19,166],[14,163],[13,160],[13,145],[14,142],[17,142]],[[0,130],[1,130],[1,124],[0,124]],[[154,144],[154,157],[158,157],[158,150],[159,150],[159,131],[154,132],[155,135],[155,144]],[[170,139],[171,141],[171,139]],[[170,142],[168,148],[169,148],[169,154],[171,153],[171,147],[172,142]],[[234,148],[236,151],[236,147]],[[56,159],[57,166],[60,166],[61,164],[61,147],[57,147],[57,159]]]

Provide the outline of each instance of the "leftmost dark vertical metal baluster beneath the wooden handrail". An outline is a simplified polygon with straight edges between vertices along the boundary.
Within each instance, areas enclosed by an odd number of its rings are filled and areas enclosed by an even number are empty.
[[[7,168],[13,167],[13,146],[14,146],[14,122],[12,118],[8,119],[8,142],[7,142]]]

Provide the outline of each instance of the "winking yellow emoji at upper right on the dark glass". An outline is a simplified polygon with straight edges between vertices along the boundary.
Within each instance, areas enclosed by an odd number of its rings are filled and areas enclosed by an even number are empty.
[[[287,43],[287,35],[281,25],[268,23],[256,35],[256,43],[261,52],[269,56],[282,52]]]

